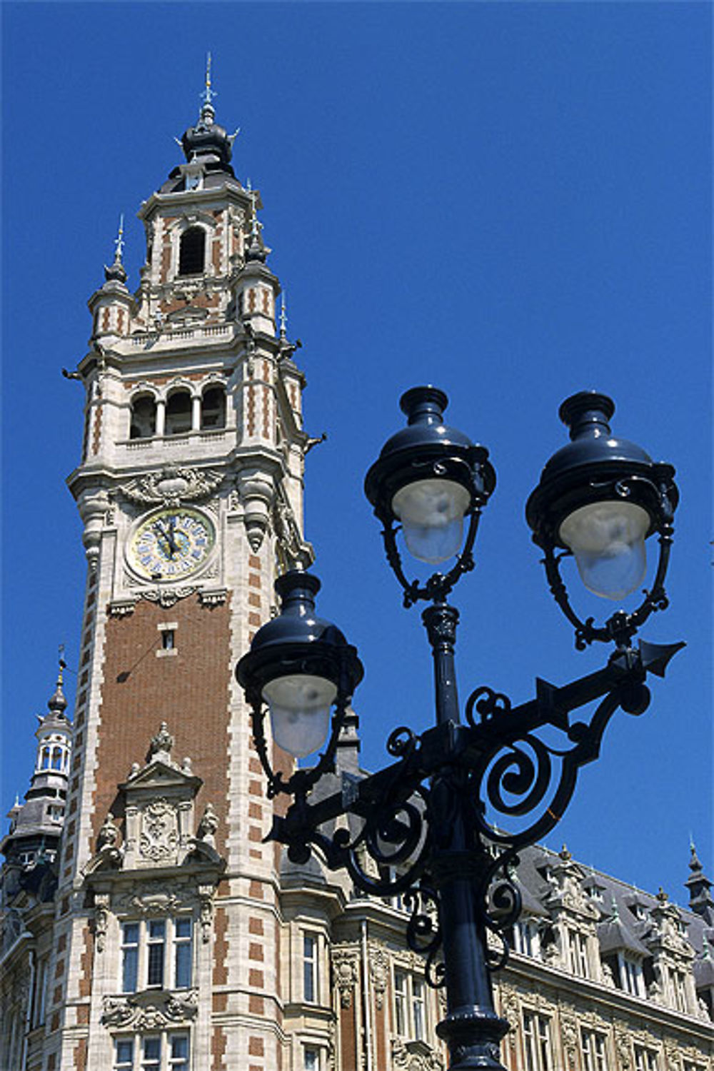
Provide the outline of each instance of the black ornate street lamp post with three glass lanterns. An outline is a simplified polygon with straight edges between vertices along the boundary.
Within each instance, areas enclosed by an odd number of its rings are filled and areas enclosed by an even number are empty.
[[[642,713],[650,700],[648,673],[664,676],[683,646],[632,645],[642,621],[667,605],[664,580],[678,492],[671,466],[654,464],[639,447],[612,437],[610,398],[592,391],[563,403],[560,414],[572,441],[545,466],[526,515],[544,552],[551,591],[575,628],[576,646],[611,640],[614,650],[604,668],[568,684],[538,680],[535,698],[517,707],[481,687],[469,696],[461,722],[454,668],[458,612],[446,597],[473,568],[478,517],[496,477],[488,452],[444,424],[446,402],[434,387],[407,391],[407,427],[389,439],[365,481],[405,605],[429,603],[422,617],[434,655],[436,725],[420,737],[396,728],[386,744],[392,765],[363,779],[344,775],[340,790],[313,798],[322,774],[334,771],[362,665],[341,632],[316,616],[320,584],[307,573],[278,578],[282,613],[256,634],[237,675],[253,709],[268,794],[294,796],[285,816],[275,817],[269,839],[286,844],[295,862],[306,861],[316,846],[328,866],[346,866],[362,891],[402,892],[411,909],[409,945],[425,954],[429,984],[446,990],[446,1016],[437,1032],[449,1046],[450,1071],[503,1071],[499,1044],[508,1026],[495,1011],[490,975],[505,963],[503,934],[520,910],[512,868],[518,849],[562,817],[578,769],[597,757],[614,711]],[[397,547],[399,528],[413,557],[430,564],[453,560],[451,568],[423,585],[409,580]],[[641,584],[644,542],[655,532],[659,561],[638,608],[618,609],[602,625],[581,621],[560,560],[574,555],[587,587],[620,600]],[[589,720],[571,719],[594,700]],[[316,753],[326,739],[317,764],[287,781],[270,760],[265,706],[273,740],[294,756]],[[546,727],[544,740],[536,730]],[[558,748],[553,730],[562,736]],[[487,804],[498,824],[487,816]],[[356,818],[356,833],[334,829],[334,819],[346,813]],[[504,828],[510,819],[517,827],[511,831]],[[365,853],[396,876],[368,873]]]

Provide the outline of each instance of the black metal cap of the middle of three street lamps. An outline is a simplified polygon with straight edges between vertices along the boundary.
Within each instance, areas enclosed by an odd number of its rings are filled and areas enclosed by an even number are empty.
[[[473,501],[490,495],[496,474],[488,451],[444,423],[447,405],[438,387],[412,387],[401,395],[407,426],[386,440],[365,478],[365,495],[379,513],[390,515],[396,492],[416,480],[453,480],[469,491]]]

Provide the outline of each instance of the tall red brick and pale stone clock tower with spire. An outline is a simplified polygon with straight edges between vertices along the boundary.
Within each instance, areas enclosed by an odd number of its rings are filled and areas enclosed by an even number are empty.
[[[47,1071],[280,1067],[277,855],[233,678],[302,538],[303,377],[210,77],[89,300],[88,578]],[[278,756],[279,758],[279,756]]]

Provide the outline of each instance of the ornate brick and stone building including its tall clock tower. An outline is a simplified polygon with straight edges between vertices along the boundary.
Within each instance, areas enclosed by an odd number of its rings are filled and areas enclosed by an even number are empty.
[[[89,300],[87,587],[73,723],[62,680],[2,848],[7,1071],[437,1071],[438,991],[399,900],[355,897],[263,843],[234,666],[307,565],[302,373],[260,195],[210,82],[185,162],[139,210],[147,255]],[[287,756],[275,749],[277,766]],[[338,773],[359,775],[358,719]],[[55,765],[55,764],[58,765]],[[689,908],[526,853],[497,1000],[511,1071],[711,1071],[714,902]]]

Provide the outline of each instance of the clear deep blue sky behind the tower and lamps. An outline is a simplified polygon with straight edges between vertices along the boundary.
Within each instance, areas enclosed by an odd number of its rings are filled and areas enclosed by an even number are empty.
[[[76,667],[85,578],[64,478],[78,461],[86,300],[126,216],[180,161],[213,54],[217,119],[264,202],[308,380],[306,530],[321,612],[360,649],[368,766],[432,719],[419,612],[400,606],[364,472],[434,382],[498,486],[457,588],[462,698],[514,703],[592,672],[523,518],[595,387],[617,433],[678,468],[671,607],[686,639],[640,719],[620,713],[548,841],[683,902],[692,833],[714,876],[711,675],[711,7],[708,3],[5,3],[3,719],[24,793],[56,651]],[[583,604],[581,604],[583,605]],[[601,612],[601,607],[597,607]],[[595,613],[588,608],[587,613]],[[67,674],[70,682],[73,675]]]

